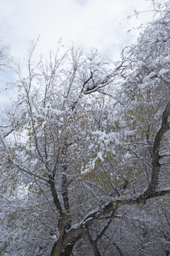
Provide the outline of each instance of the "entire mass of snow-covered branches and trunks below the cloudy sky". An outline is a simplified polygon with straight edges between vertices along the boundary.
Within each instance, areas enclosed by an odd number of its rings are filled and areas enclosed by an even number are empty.
[[[170,12],[153,4],[117,63],[30,44],[0,123],[1,255],[170,254]]]

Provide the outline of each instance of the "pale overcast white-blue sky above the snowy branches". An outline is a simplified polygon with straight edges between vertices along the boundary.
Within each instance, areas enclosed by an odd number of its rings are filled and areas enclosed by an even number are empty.
[[[120,49],[135,39],[127,34],[128,29],[148,17],[142,14],[139,20],[128,20],[134,9],[149,9],[149,1],[0,0],[0,40],[10,43],[11,54],[17,59],[26,55],[29,42],[40,35],[40,49],[44,53],[55,48],[62,38],[65,45],[74,42],[86,48],[96,47],[116,60]],[[10,93],[4,91],[9,78],[8,74],[0,74],[1,102]]]

